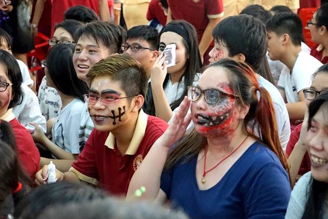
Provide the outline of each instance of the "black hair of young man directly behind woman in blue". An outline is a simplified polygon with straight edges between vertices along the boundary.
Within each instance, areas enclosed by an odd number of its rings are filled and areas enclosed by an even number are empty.
[[[268,48],[265,26],[253,16],[230,16],[213,29],[216,43],[227,47],[229,56],[243,54],[245,61],[256,72]]]

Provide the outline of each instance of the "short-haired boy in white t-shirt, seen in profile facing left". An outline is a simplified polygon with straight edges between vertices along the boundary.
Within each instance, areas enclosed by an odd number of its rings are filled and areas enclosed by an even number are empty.
[[[302,21],[293,13],[279,13],[266,23],[268,52],[272,60],[280,60],[283,67],[278,88],[283,96],[289,118],[304,118],[305,102],[303,89],[310,87],[312,74],[323,64],[301,50]]]

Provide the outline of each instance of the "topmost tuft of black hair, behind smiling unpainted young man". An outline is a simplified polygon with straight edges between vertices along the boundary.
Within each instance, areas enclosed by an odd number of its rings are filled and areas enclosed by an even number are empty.
[[[89,23],[91,21],[99,20],[96,12],[91,8],[83,5],[73,6],[67,9],[64,13],[64,20],[76,20],[82,23]]]

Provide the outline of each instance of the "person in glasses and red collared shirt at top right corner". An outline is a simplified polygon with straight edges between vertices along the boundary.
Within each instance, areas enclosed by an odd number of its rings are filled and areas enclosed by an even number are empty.
[[[328,63],[328,3],[321,5],[313,14],[312,20],[307,22],[311,32],[311,41],[316,43],[311,49],[311,55]]]

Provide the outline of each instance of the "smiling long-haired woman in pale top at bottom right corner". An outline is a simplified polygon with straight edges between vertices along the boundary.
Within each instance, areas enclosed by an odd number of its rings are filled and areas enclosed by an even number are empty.
[[[328,93],[312,100],[308,111],[305,144],[311,172],[291,192],[286,219],[328,218]]]

